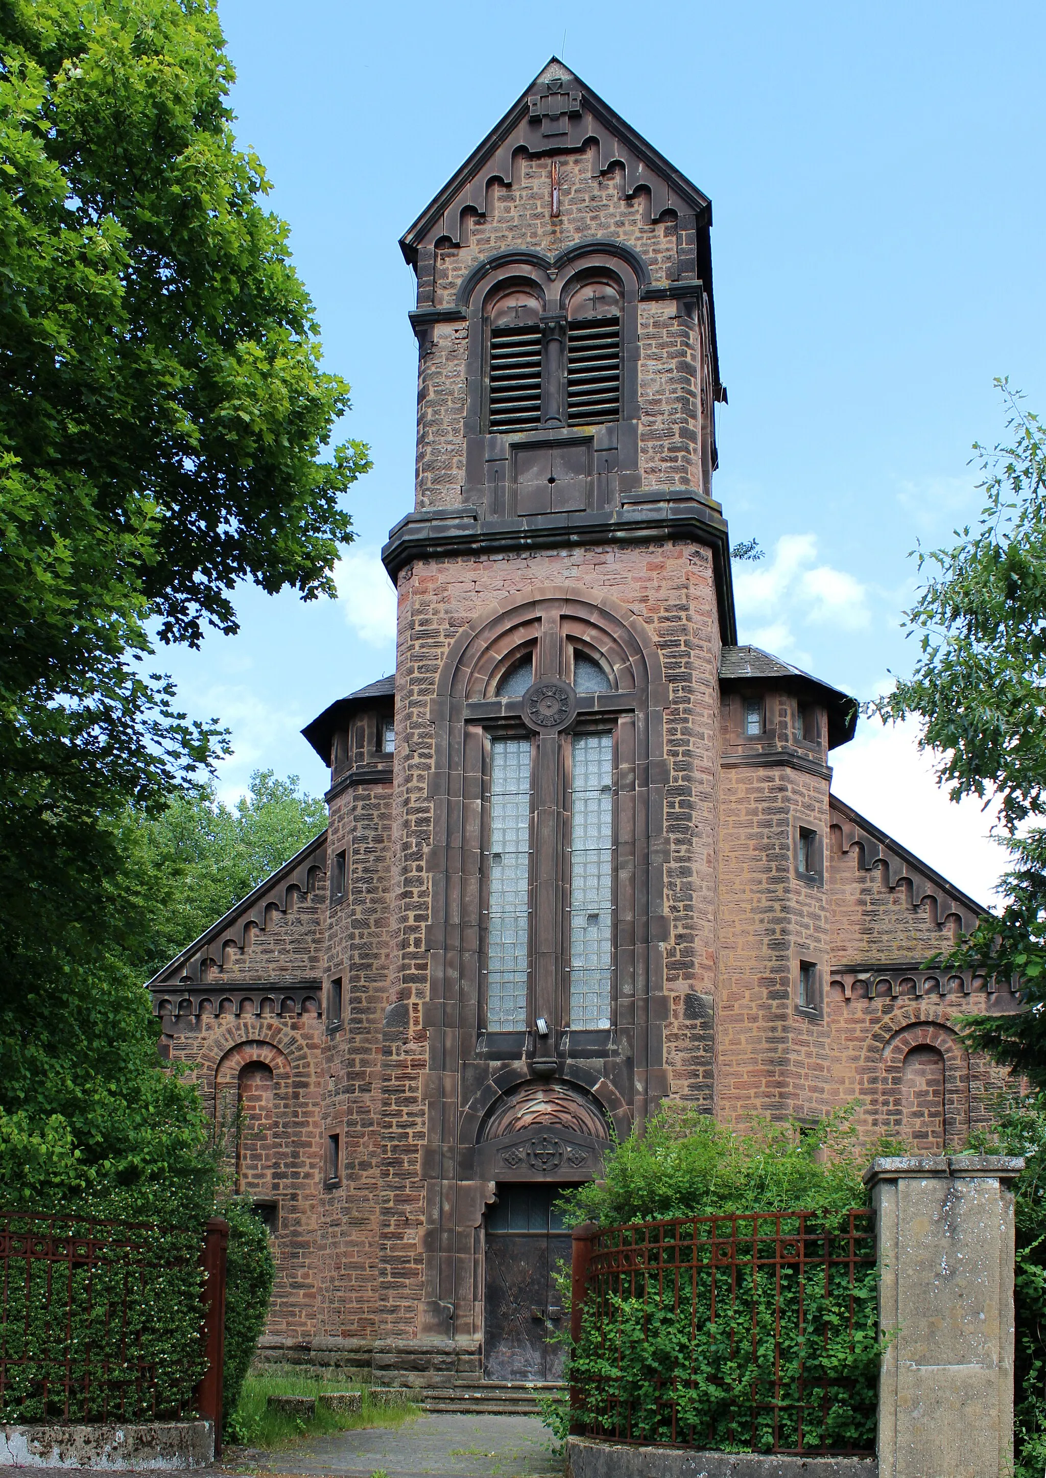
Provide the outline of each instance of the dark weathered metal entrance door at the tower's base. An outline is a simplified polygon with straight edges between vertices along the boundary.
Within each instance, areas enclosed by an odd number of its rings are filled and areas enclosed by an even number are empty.
[[[553,1281],[570,1234],[551,1209],[561,1185],[499,1185],[486,1221],[483,1373],[488,1380],[560,1380],[564,1326]]]

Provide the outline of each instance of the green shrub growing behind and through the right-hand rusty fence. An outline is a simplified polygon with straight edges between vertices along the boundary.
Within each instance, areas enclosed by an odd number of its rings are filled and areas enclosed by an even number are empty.
[[[737,1273],[718,1259],[712,1267],[711,1249],[705,1265],[691,1267],[691,1244],[677,1243],[668,1228],[652,1231],[652,1271],[604,1277],[570,1349],[569,1379],[589,1429],[623,1435],[626,1428],[646,1441],[719,1450],[872,1448],[878,1270],[875,1262],[851,1268],[823,1261],[826,1247],[832,1258],[845,1255],[848,1218],[841,1213],[867,1205],[866,1163],[852,1110],[814,1126],[761,1122],[739,1135],[693,1108],[666,1104],[643,1134],[615,1145],[604,1179],[563,1199],[570,1224],[813,1215],[802,1224],[783,1218],[792,1261],[762,1267],[758,1277],[752,1222],[736,1225]],[[731,1230],[721,1225],[717,1234]],[[708,1224],[699,1224],[688,1236],[706,1231]],[[566,1268],[560,1278],[566,1299]],[[561,1435],[564,1413],[542,1414]]]

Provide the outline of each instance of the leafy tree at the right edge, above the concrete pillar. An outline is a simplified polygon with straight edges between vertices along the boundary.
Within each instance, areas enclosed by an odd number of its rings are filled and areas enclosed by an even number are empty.
[[[1009,440],[982,458],[985,505],[951,548],[919,553],[929,578],[906,615],[920,634],[910,678],[873,705],[922,720],[951,800],[999,803],[1011,854],[1000,891],[950,961],[1019,981],[1030,1009],[966,1017],[966,1039],[1046,1088],[1046,429],[997,381]]]

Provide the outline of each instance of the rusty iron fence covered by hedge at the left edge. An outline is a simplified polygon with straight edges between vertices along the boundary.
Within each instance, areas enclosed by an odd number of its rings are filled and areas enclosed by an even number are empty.
[[[220,1443],[226,1237],[0,1210],[0,1420],[199,1414]]]

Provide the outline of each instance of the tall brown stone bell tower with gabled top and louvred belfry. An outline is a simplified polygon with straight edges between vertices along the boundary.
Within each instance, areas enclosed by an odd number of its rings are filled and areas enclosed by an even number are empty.
[[[496,1377],[556,1375],[499,1292],[513,1236],[554,1320],[556,1190],[666,1094],[712,1107],[736,634],[711,222],[553,59],[400,242],[383,1336],[482,1346]]]

